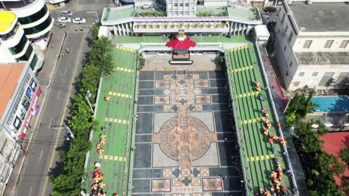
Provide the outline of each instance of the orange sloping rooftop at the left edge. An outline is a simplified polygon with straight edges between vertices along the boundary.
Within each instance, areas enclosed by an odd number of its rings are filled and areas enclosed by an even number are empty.
[[[26,63],[0,64],[0,118],[3,116],[9,100],[16,89],[18,79]]]

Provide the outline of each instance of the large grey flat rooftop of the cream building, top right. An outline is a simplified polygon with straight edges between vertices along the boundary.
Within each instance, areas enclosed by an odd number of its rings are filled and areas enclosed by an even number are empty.
[[[349,5],[346,3],[292,2],[288,5],[293,18],[302,32],[347,32],[349,31]]]

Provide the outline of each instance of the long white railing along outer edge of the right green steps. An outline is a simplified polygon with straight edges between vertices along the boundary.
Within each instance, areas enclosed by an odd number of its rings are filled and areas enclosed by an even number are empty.
[[[268,94],[269,94],[269,97],[270,97],[270,103],[271,103],[272,111],[273,111],[273,113],[275,115],[275,119],[277,120],[277,122],[279,122],[278,113],[277,113],[277,110],[276,110],[276,107],[275,107],[274,100],[273,100],[272,95],[271,95],[269,82],[268,82],[267,75],[266,75],[266,72],[265,72],[265,69],[264,69],[263,59],[262,59],[262,56],[261,56],[261,52],[259,50],[258,39],[255,40],[255,45],[256,45],[256,48],[257,48],[259,61],[261,62],[263,77],[264,77],[265,83],[266,83],[267,88],[268,88]],[[278,127],[278,130],[279,130],[280,136],[283,139],[285,139],[284,138],[284,134],[283,134],[282,129],[281,129],[281,126]],[[299,195],[298,187],[297,187],[297,184],[296,184],[296,181],[295,181],[295,177],[294,177],[294,173],[293,173],[293,170],[292,170],[291,160],[290,160],[290,157],[288,156],[286,145],[282,145],[282,146],[283,146],[284,152],[286,153],[285,157],[286,157],[286,161],[287,161],[287,166],[288,166],[289,170],[291,171],[291,179],[292,179],[293,187],[295,189],[295,193],[297,195]]]

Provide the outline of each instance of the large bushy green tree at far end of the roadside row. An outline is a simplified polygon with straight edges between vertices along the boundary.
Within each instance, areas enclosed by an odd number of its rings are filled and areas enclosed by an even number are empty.
[[[90,51],[90,62],[98,67],[103,74],[110,74],[114,69],[111,51],[112,43],[108,38],[93,41]]]

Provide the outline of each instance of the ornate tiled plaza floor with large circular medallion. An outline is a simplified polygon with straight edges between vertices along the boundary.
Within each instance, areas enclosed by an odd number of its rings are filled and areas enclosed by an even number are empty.
[[[140,72],[132,195],[241,195],[222,71]]]

